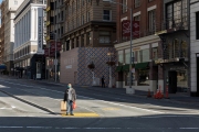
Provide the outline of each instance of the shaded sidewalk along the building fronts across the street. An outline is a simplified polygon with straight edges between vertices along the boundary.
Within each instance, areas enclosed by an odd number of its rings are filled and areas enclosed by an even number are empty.
[[[2,77],[2,76],[0,76]],[[3,76],[3,78],[15,78],[11,76]],[[23,78],[20,78],[23,79]],[[60,85],[60,86],[65,86],[65,84],[61,82],[53,82],[52,80],[33,80],[33,79],[27,79],[30,81],[42,81],[46,84],[54,84],[54,85]],[[85,88],[88,90],[95,90],[95,91],[101,91],[101,92],[109,92],[109,94],[115,94],[115,95],[121,95],[121,96],[134,96],[134,97],[139,97],[139,98],[147,98],[148,92],[147,91],[140,91],[140,90],[135,90],[134,95],[126,95],[126,89],[125,88],[101,88],[101,87],[91,87],[91,86],[74,86],[74,88]],[[153,99],[153,92],[150,92]],[[177,92],[177,94],[169,94],[168,95],[169,99],[163,98],[163,99],[157,99],[157,100],[163,100],[163,101],[169,101],[171,103],[182,103],[182,105],[190,105],[190,106],[198,106],[199,107],[199,97],[190,97],[188,92]]]

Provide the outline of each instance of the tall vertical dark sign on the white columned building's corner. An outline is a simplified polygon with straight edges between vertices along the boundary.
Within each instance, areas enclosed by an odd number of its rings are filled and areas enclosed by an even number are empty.
[[[38,9],[38,53],[36,54],[44,54],[43,48],[43,9]]]

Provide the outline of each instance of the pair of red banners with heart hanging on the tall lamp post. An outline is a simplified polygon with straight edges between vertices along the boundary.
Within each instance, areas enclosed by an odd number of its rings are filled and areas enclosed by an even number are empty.
[[[130,36],[130,20],[124,20],[122,22],[123,36]],[[139,37],[139,21],[132,22],[132,34],[133,37]]]

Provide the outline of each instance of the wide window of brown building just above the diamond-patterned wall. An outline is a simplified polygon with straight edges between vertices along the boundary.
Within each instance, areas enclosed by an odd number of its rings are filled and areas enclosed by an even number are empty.
[[[111,33],[109,32],[100,32],[98,43],[101,44],[109,44],[111,42]]]

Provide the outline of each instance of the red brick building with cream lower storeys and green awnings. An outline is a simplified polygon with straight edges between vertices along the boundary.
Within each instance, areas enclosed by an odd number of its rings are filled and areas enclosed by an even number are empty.
[[[117,4],[121,3],[121,4]],[[117,0],[117,79],[116,87],[129,87],[129,64],[130,64],[130,37],[123,36],[122,22],[130,20],[133,10],[133,21],[139,21],[139,35],[133,38],[133,88],[136,90],[156,91],[164,86],[163,67],[155,64],[161,56],[161,41],[155,35],[163,22],[163,1],[161,0]],[[114,3],[113,3],[114,4]],[[128,8],[126,9],[125,6]],[[133,31],[134,33],[134,31]]]

